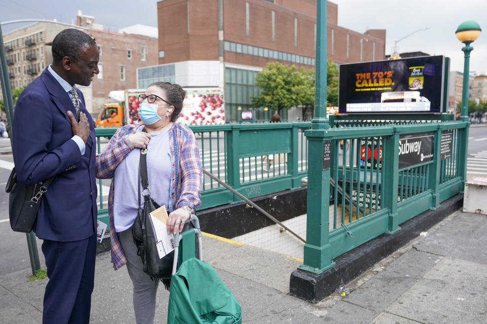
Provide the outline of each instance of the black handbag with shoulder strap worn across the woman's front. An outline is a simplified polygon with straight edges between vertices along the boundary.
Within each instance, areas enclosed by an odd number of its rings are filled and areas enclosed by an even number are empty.
[[[144,272],[152,279],[161,280],[166,289],[169,289],[174,251],[168,253],[162,259],[159,259],[156,238],[152,229],[149,214],[160,206],[150,195],[149,181],[147,179],[147,149],[141,150],[139,178],[138,205],[141,205],[140,185],[142,184],[144,207],[138,209],[137,217],[132,226],[133,241],[137,246],[137,255],[142,258]],[[192,223],[186,223],[183,227],[183,231],[193,227]]]

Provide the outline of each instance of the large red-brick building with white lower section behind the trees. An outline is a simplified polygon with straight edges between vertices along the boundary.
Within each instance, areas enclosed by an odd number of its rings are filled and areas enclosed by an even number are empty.
[[[267,62],[314,68],[316,0],[164,0],[157,3],[159,67],[141,68],[137,85],[154,80],[183,87],[223,87],[227,120],[251,106],[254,77]],[[327,2],[327,54],[336,63],[385,58],[386,30],[359,33],[338,26],[338,6]],[[284,112],[285,116],[287,112]],[[291,116],[290,116],[290,119]]]

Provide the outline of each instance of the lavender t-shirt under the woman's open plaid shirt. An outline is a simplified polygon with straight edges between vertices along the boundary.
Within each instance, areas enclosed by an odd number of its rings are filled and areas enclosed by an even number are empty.
[[[147,175],[151,196],[160,206],[168,208],[171,185],[171,156],[169,149],[169,131],[167,127],[159,132],[151,132],[147,146]],[[138,128],[137,132],[141,132]],[[124,231],[132,226],[138,211],[138,165],[141,150],[135,148],[118,165],[114,174],[115,190],[113,198],[113,215],[115,230]],[[144,196],[141,193],[141,207]]]

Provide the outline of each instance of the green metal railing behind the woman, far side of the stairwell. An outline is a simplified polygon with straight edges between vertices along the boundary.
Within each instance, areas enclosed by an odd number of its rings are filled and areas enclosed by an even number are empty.
[[[311,123],[195,125],[203,169],[246,197],[298,188],[307,174],[307,141]],[[100,153],[116,128],[96,128]],[[269,166],[269,156],[273,163]],[[108,222],[110,181],[98,181],[98,219]],[[203,177],[199,209],[235,203],[241,198],[210,177]]]

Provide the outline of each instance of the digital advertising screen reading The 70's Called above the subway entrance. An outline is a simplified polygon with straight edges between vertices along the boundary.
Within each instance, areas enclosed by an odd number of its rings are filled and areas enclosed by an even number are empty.
[[[340,65],[339,113],[440,113],[444,56]]]

